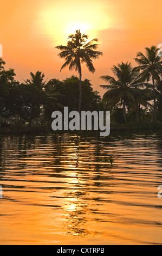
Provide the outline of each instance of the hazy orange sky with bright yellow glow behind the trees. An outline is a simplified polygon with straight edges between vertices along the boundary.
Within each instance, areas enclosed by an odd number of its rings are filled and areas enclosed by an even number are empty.
[[[95,74],[83,66],[83,78],[103,93],[102,75],[121,61],[133,62],[144,47],[162,43],[161,0],[0,0],[0,44],[6,68],[14,68],[17,80],[40,70],[46,78],[63,80],[74,74],[60,68],[57,45],[81,29],[89,39],[99,38],[103,57],[94,60]]]

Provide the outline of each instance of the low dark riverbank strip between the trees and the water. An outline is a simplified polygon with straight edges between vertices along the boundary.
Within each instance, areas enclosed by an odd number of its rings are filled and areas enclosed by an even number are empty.
[[[162,122],[111,124],[111,130],[162,130]],[[43,133],[43,132],[54,133],[54,131],[51,129],[51,126],[48,126],[48,125],[33,125],[30,127],[29,126],[20,126],[20,127],[11,126],[11,127],[0,128],[0,135],[9,134],[9,133],[20,134],[20,133]],[[83,133],[85,133],[85,131],[83,131]]]

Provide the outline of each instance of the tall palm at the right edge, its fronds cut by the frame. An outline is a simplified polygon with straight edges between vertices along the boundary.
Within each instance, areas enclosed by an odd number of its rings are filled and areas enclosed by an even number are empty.
[[[157,121],[156,117],[156,92],[155,92],[155,82],[159,83],[159,74],[162,72],[162,61],[158,56],[159,48],[156,46],[146,47],[146,56],[139,52],[135,61],[139,64],[141,75],[144,76],[148,81],[152,79],[153,87],[153,101],[154,101],[154,121]]]

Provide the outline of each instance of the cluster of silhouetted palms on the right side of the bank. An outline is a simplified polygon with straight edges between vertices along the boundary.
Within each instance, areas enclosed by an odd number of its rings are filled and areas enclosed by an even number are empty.
[[[146,47],[145,50],[146,54],[139,52],[135,58],[138,66],[133,68],[131,63],[122,62],[113,66],[113,76],[101,76],[108,83],[101,86],[107,90],[103,101],[111,109],[122,107],[125,123],[126,109],[128,117],[130,112],[134,112],[137,121],[140,113],[145,113],[155,122],[162,119],[162,61],[157,47]]]

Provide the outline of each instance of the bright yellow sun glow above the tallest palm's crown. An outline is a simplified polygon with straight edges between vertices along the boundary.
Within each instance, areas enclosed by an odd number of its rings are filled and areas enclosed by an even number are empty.
[[[64,8],[62,8],[64,4]],[[80,29],[90,35],[89,40],[98,37],[98,31],[111,27],[111,18],[98,2],[84,5],[62,1],[46,6],[38,12],[38,27],[43,29],[53,42],[65,44],[68,35]]]

